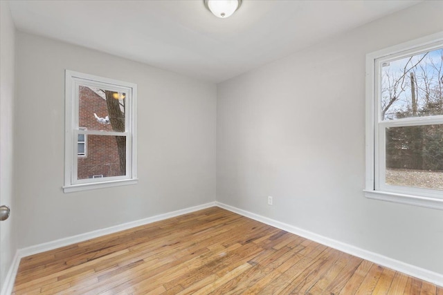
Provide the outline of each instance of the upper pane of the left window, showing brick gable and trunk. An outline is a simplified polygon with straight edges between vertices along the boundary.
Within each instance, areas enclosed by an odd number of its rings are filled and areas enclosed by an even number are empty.
[[[126,93],[79,86],[78,124],[89,130],[125,131]]]

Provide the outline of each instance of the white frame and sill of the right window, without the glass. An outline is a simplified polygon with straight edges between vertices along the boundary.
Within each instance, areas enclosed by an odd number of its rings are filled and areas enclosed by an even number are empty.
[[[418,53],[443,47],[443,32],[424,38],[378,50],[366,55],[366,179],[365,197],[411,204],[420,207],[443,209],[443,191],[399,187],[386,184],[386,128],[443,124],[443,115],[408,117],[397,120],[381,120],[379,88],[381,64]]]

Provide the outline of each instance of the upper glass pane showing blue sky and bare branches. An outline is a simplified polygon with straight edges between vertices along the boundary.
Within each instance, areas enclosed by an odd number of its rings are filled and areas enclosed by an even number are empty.
[[[381,64],[381,118],[443,115],[443,48]]]

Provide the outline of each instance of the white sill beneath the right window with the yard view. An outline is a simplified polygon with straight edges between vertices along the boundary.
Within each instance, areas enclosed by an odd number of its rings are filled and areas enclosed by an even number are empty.
[[[370,191],[363,190],[365,197],[387,202],[395,202],[400,204],[409,204],[413,206],[443,210],[443,199],[406,195],[403,193],[390,193],[387,191]]]

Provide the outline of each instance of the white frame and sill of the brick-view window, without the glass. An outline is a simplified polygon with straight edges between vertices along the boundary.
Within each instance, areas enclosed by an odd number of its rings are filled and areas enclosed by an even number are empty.
[[[97,131],[82,129],[78,126],[79,86],[106,88],[110,91],[126,93],[125,132]],[[115,79],[98,77],[85,73],[66,70],[65,73],[65,151],[64,151],[64,193],[136,184],[137,179],[137,85]],[[126,175],[107,178],[88,178],[78,180],[78,135],[125,136],[126,137]]]

